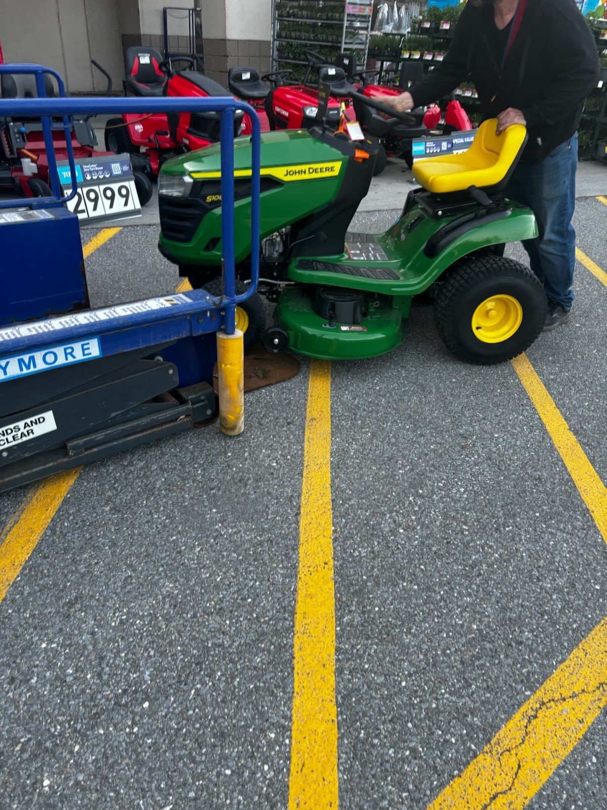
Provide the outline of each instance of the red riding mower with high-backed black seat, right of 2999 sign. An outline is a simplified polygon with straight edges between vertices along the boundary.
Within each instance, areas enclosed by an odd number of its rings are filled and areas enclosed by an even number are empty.
[[[172,62],[185,62],[188,70],[172,69]],[[92,63],[112,79],[97,62]],[[136,45],[125,55],[125,95],[135,96],[229,96],[221,84],[194,70],[193,58],[172,56],[163,59],[154,48]],[[248,116],[236,115],[235,135],[251,134]],[[117,153],[129,152],[133,168],[156,177],[165,160],[193,149],[219,142],[219,113],[125,114],[110,118],[105,125],[105,147]]]

